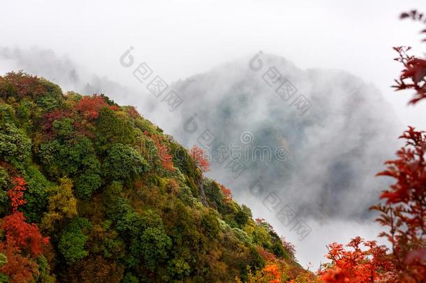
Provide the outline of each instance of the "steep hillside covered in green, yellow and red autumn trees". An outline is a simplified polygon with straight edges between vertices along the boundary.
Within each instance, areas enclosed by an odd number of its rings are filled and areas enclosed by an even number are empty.
[[[0,77],[0,282],[311,277],[203,170],[197,148],[132,106],[22,72]]]

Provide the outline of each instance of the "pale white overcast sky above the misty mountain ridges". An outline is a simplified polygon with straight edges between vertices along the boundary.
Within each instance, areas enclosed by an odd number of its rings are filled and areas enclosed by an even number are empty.
[[[119,65],[119,57],[130,46],[137,61],[146,61],[168,82],[263,50],[302,69],[353,73],[381,90],[395,108],[395,121],[426,129],[426,102],[407,106],[412,93],[390,88],[401,69],[392,61],[392,46],[411,45],[417,55],[425,50],[420,24],[401,21],[399,14],[413,8],[426,10],[425,1],[117,3],[8,1],[2,5],[0,47],[51,49],[87,74],[135,88],[135,78]],[[0,59],[0,73],[10,71],[7,63]],[[144,106],[138,109],[144,113]]]

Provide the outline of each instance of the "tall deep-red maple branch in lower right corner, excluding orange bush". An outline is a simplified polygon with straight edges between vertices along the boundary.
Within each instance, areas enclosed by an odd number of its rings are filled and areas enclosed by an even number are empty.
[[[377,221],[388,226],[381,237],[392,245],[395,271],[404,280],[426,279],[426,133],[409,127],[402,138],[406,146],[398,159],[386,161],[388,168],[377,175],[397,181],[383,191],[385,205],[374,205],[381,212]]]

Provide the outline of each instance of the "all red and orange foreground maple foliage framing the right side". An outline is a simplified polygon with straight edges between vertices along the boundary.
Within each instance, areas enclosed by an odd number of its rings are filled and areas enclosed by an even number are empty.
[[[401,17],[426,22],[415,10]],[[426,60],[407,55],[411,48],[394,49],[399,53],[395,60],[405,67],[395,87],[416,90],[411,104],[426,99]],[[388,168],[377,174],[396,182],[381,194],[385,203],[370,208],[381,213],[376,221],[388,227],[388,232],[379,236],[389,240],[391,251],[360,237],[348,244],[353,251],[333,243],[327,256],[332,262],[320,271],[325,282],[426,282],[426,133],[410,126],[399,138],[406,140],[406,145],[397,151],[397,159],[386,161]]]

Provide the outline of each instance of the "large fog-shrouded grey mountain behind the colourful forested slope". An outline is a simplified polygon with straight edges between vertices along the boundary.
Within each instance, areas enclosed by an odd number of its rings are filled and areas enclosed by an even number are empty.
[[[397,149],[394,113],[374,85],[350,73],[301,70],[258,53],[171,87],[182,97],[172,136],[205,147],[210,176],[226,178],[252,207],[365,217],[386,185],[374,174]],[[226,161],[223,145],[235,153]]]

